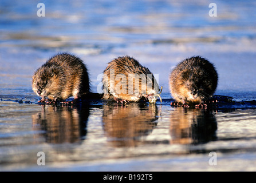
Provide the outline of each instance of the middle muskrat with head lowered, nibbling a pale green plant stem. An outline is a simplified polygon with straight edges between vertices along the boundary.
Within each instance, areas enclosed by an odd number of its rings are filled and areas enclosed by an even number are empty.
[[[128,55],[113,59],[103,73],[105,100],[123,104],[144,99],[155,103],[160,98],[159,85],[151,71]]]

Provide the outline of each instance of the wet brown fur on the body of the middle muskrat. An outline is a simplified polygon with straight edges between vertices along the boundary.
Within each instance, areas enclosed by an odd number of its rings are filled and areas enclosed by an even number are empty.
[[[109,82],[109,78],[111,77],[111,70],[115,71],[115,85],[111,85]],[[107,68],[104,70],[104,77],[103,77],[103,85],[105,88],[104,93],[104,99],[105,100],[124,100],[124,101],[130,101],[130,102],[137,102],[141,100],[141,98],[145,97],[147,98],[149,94],[158,94],[159,86],[157,82],[155,81],[155,78],[153,77],[153,74],[147,67],[141,66],[136,59],[127,56],[124,57],[118,57],[116,59],[113,59],[111,62],[108,63]],[[126,86],[127,90],[125,92],[115,90],[115,87],[117,84],[121,81],[121,79],[117,79],[116,81],[116,75],[117,74],[124,74],[127,78]],[[139,80],[139,89],[137,89],[137,92],[135,92],[135,81],[133,79],[133,93],[129,93],[128,91],[128,75],[129,74],[145,74],[147,77],[147,74],[152,75],[152,87],[145,89],[144,87],[141,89],[141,80]],[[149,78],[147,78],[147,81]],[[157,91],[154,89],[154,83],[156,82]],[[143,85],[144,86],[144,85]],[[122,89],[122,88],[121,88]],[[120,89],[120,90],[121,90]]]

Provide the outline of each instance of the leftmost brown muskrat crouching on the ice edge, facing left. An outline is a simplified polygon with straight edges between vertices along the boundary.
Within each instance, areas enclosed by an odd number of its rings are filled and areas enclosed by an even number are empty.
[[[82,60],[68,53],[57,54],[42,65],[33,75],[33,91],[46,101],[80,98],[89,92],[88,71]]]

